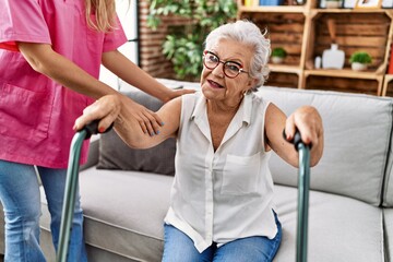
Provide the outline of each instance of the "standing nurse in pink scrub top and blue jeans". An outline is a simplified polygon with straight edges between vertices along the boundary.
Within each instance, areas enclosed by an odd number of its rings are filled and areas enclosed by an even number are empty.
[[[99,82],[100,63],[129,84],[167,102],[171,91],[121,55],[127,41],[115,0],[0,0],[0,200],[5,261],[46,261],[39,247],[39,175],[57,249],[72,126],[95,99],[115,94],[143,132],[162,120]],[[127,103],[126,103],[127,102]],[[104,130],[102,130],[104,131]],[[86,162],[88,142],[81,164]],[[80,198],[69,261],[86,261]]]

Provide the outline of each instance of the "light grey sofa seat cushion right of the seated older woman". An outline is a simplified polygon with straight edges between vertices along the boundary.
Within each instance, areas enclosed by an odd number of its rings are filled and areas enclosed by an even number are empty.
[[[319,191],[309,201],[308,261],[384,261],[382,209]],[[297,189],[276,186],[275,203],[283,239],[274,262],[295,261]]]

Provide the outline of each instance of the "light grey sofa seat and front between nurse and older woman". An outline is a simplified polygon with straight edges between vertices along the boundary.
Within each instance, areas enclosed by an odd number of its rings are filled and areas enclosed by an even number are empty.
[[[82,171],[86,245],[135,261],[160,261],[172,180],[171,176],[94,167]],[[41,227],[49,230],[46,206],[43,213]]]

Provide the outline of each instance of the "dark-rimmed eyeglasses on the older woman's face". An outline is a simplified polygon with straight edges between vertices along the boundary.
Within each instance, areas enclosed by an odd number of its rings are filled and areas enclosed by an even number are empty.
[[[219,63],[224,64],[223,72],[229,79],[235,79],[236,76],[239,75],[239,73],[249,73],[249,72],[245,71],[242,69],[242,66],[238,62],[221,61],[219,58],[215,53],[207,51],[207,50],[205,50],[203,52],[203,64],[207,69],[213,70],[216,67],[218,67]]]

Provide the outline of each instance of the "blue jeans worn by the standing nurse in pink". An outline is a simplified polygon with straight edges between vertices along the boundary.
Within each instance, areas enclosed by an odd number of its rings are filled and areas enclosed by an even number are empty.
[[[58,248],[67,169],[37,167],[51,216],[50,229]],[[39,247],[40,196],[32,165],[0,160],[0,200],[5,216],[7,262],[46,261]],[[68,261],[85,262],[83,213],[78,193]]]

